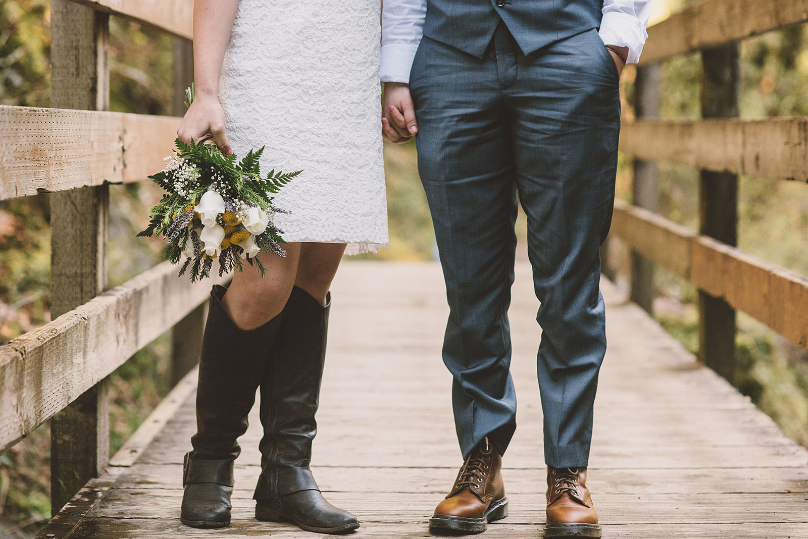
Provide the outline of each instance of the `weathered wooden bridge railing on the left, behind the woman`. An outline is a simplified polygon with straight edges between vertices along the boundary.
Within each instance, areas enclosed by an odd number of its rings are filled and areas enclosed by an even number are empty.
[[[0,451],[51,420],[53,512],[109,461],[106,378],[172,327],[176,382],[199,357],[210,283],[163,263],[107,290],[109,184],[162,169],[178,117],[109,107],[109,15],[175,34],[174,113],[193,0],[52,0],[52,107],[0,107],[0,199],[51,194],[53,321],[0,346]]]

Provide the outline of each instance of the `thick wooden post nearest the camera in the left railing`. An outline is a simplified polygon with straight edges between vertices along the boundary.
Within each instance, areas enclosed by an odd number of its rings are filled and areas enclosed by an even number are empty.
[[[51,0],[51,106],[108,110],[109,15]],[[107,288],[108,186],[51,194],[53,318]],[[102,380],[51,420],[56,514],[109,462],[109,399]]]

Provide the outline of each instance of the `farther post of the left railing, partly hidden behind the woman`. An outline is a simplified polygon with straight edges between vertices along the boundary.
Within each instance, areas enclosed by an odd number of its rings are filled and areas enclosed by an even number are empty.
[[[194,80],[193,44],[183,38],[174,40],[174,106],[175,116],[185,114],[185,89]],[[171,385],[179,382],[196,363],[202,352],[202,332],[208,315],[207,303],[189,312],[171,330]]]

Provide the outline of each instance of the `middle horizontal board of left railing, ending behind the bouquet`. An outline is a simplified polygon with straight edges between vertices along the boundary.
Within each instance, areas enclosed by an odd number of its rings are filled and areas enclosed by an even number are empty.
[[[0,200],[138,182],[161,170],[180,119],[0,105]]]

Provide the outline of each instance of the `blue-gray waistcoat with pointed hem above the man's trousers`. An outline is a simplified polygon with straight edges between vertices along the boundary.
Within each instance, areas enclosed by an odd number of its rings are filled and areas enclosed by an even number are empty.
[[[600,27],[603,0],[427,0],[423,35],[482,58],[502,20],[524,54]]]

